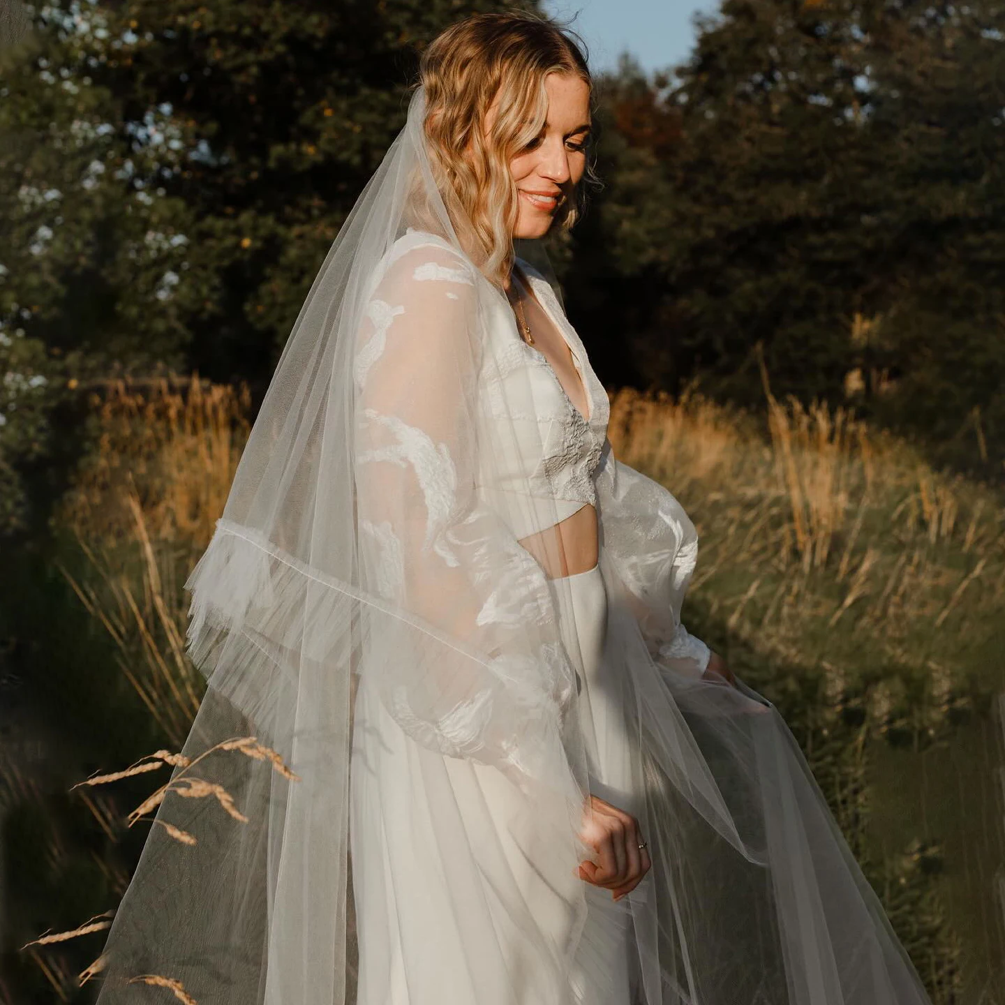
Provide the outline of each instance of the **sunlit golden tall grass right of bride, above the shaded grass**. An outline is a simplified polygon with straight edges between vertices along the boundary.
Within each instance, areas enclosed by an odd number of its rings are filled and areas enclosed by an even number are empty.
[[[767,432],[697,396],[612,398],[615,455],[697,526],[693,595],[807,665],[896,663],[999,686],[1000,496],[842,409],[769,398]]]

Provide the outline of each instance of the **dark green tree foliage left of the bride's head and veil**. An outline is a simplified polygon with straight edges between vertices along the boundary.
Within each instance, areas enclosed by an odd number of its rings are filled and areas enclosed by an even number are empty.
[[[14,462],[45,450],[67,391],[155,368],[265,381],[422,46],[533,4],[29,7],[0,76],[4,524],[24,517]]]

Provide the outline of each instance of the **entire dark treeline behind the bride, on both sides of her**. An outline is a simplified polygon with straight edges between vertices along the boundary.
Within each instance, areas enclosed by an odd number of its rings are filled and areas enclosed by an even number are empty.
[[[0,67],[0,520],[97,377],[260,388],[445,23],[517,0],[58,0]],[[532,4],[527,0],[524,6]],[[609,385],[852,400],[1005,461],[1005,10],[725,0],[601,80],[606,189],[556,257]]]

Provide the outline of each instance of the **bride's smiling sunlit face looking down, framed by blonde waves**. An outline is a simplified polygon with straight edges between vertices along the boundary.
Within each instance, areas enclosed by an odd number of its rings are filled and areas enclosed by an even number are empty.
[[[558,207],[573,198],[586,170],[590,133],[590,87],[571,73],[549,73],[548,121],[530,146],[510,161],[520,215],[514,237],[548,233]],[[486,127],[494,109],[489,109]]]

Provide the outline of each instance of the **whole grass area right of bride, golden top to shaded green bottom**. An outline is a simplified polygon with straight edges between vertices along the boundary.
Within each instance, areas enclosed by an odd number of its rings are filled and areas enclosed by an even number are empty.
[[[786,715],[936,1000],[1001,1001],[1000,492],[770,394],[622,391],[610,436],[694,521],[685,620]]]

